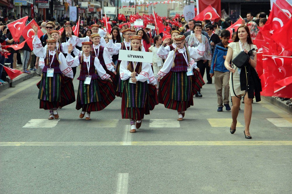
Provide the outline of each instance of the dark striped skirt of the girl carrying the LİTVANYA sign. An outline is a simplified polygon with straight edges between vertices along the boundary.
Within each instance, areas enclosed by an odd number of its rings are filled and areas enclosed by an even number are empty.
[[[134,119],[140,121],[144,118],[148,100],[148,84],[147,82],[129,83],[129,79],[124,82],[124,92],[122,93],[121,112],[123,119]],[[145,105],[147,103],[147,105]]]

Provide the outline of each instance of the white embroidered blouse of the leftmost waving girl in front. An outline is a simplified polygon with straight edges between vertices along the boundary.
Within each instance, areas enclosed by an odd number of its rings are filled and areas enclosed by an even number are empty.
[[[47,48],[42,46],[41,40],[37,36],[35,36],[34,39],[32,40],[32,47],[33,47],[33,52],[36,55],[36,57],[40,57],[40,59],[46,58]],[[49,50],[48,57],[50,57],[50,55],[55,55],[55,54],[56,54],[56,50],[53,50],[53,51]],[[62,52],[59,53],[58,59],[60,62],[59,68],[62,71],[62,73],[67,77],[73,78],[72,68],[68,66],[66,62],[66,58],[64,57],[64,54]]]

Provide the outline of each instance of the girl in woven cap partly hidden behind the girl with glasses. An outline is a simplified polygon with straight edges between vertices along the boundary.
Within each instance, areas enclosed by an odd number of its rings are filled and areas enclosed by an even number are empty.
[[[180,32],[177,30],[173,30],[171,31],[171,39],[170,38],[165,38],[163,40],[163,43],[161,45],[161,47],[157,50],[157,55],[162,58],[162,59],[166,59],[168,56],[168,53],[172,50],[175,50],[176,45],[175,45],[175,37],[180,35]],[[170,43],[172,40],[172,44],[171,45],[167,45],[166,44]]]

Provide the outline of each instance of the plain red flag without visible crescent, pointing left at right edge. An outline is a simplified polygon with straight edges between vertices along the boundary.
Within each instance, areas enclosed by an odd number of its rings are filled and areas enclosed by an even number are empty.
[[[272,35],[272,39],[277,42],[285,50],[292,51],[292,19],[290,19],[283,27],[277,30],[277,33]]]

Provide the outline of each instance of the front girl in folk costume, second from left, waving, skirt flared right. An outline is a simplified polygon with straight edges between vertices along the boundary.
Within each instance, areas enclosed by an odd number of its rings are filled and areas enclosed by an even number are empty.
[[[97,57],[93,57],[90,52],[92,42],[82,43],[82,52],[75,58],[71,56],[73,46],[68,47],[66,57],[67,63],[71,67],[80,66],[79,87],[77,93],[76,109],[82,109],[79,118],[83,118],[86,114],[86,120],[90,120],[92,111],[100,111],[107,107],[115,98],[112,80]],[[97,70],[98,75],[95,73]],[[100,79],[100,78],[101,79]]]

